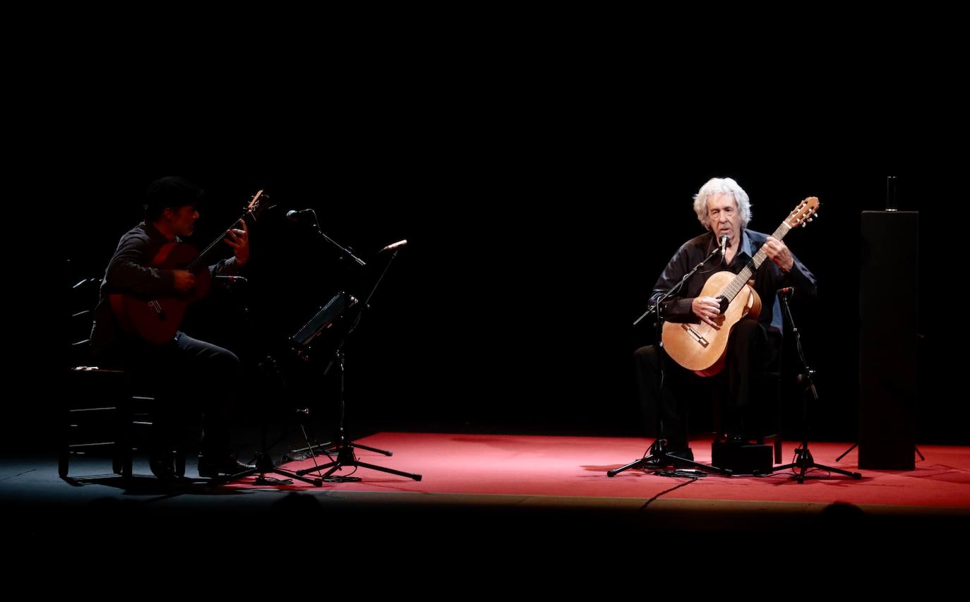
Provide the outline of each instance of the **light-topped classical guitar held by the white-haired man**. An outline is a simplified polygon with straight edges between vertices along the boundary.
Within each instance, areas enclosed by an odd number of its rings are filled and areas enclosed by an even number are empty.
[[[818,198],[805,199],[771,236],[781,240],[792,228],[805,226],[818,207]],[[713,297],[721,302],[722,311],[714,319],[717,326],[664,322],[663,348],[667,355],[699,376],[713,376],[724,369],[731,329],[743,318],[757,318],[760,314],[761,300],[749,280],[767,257],[762,247],[740,273],[719,271],[708,278],[698,297]]]

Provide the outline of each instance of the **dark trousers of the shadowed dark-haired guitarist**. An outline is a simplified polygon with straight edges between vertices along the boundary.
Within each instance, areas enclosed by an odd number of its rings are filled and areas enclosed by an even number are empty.
[[[124,369],[133,382],[133,391],[147,389],[156,397],[152,408],[153,451],[171,447],[189,415],[201,411],[203,454],[229,452],[230,416],[240,380],[236,354],[177,333],[164,345],[127,341],[109,350],[102,364]]]

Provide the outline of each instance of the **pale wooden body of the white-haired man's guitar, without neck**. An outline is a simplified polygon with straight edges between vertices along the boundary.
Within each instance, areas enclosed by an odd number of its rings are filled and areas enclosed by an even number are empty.
[[[698,297],[721,298],[722,291],[737,274],[719,271],[708,278]],[[722,301],[724,307],[724,301]],[[734,325],[744,318],[758,318],[761,300],[750,283],[727,303],[712,327],[704,322],[664,322],[663,349],[668,356],[698,376],[713,376],[724,369],[727,339]]]

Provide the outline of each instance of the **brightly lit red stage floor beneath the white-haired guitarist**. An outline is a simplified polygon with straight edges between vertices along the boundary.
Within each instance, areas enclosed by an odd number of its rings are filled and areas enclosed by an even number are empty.
[[[607,478],[607,470],[643,455],[650,440],[642,438],[382,432],[358,443],[394,452],[393,458],[388,458],[359,451],[361,461],[418,473],[423,480],[414,482],[360,468],[354,476],[361,477],[362,482],[324,484],[320,489],[639,500],[663,494],[664,500],[970,508],[968,447],[921,446],[925,460],[917,458],[916,470],[862,470],[858,481],[817,471],[799,485],[790,479],[791,473],[731,478],[712,475],[692,481],[628,470]],[[792,460],[795,446],[784,446],[785,462]],[[692,441],[692,447],[697,461],[710,463],[710,440]],[[810,445],[817,462],[857,470],[855,451],[841,462],[835,461],[848,447],[847,443]],[[283,467],[296,470],[310,465],[310,460],[304,460]],[[680,484],[684,486],[673,489]],[[250,479],[237,487],[256,486]],[[285,489],[317,490],[302,483]]]

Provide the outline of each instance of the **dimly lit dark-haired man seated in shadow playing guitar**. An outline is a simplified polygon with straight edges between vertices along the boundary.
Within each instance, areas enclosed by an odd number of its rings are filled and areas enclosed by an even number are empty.
[[[192,235],[199,219],[196,205],[203,195],[201,188],[178,176],[163,177],[148,186],[145,220],[118,242],[101,283],[91,333],[92,351],[100,364],[148,379],[160,393],[162,402],[153,411],[149,460],[151,471],[160,478],[175,477],[171,439],[180,422],[178,415],[188,406],[203,412],[199,475],[215,477],[248,467],[229,448],[229,413],[240,369],[236,355],[181,332],[166,343],[148,343],[121,328],[109,303],[109,295],[114,293],[152,300],[192,291],[195,275],[191,272],[151,265],[165,244]],[[210,266],[212,275],[233,274],[249,259],[244,221],[242,230],[229,230],[225,241],[232,247],[233,257]]]

